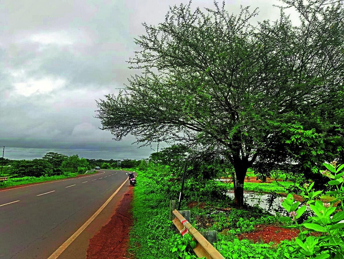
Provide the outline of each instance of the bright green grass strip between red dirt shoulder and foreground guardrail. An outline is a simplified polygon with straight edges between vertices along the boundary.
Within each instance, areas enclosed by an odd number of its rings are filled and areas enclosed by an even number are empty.
[[[169,220],[169,202],[163,193],[151,192],[154,181],[143,172],[134,188],[130,249],[136,258],[173,258],[170,237],[175,234]]]

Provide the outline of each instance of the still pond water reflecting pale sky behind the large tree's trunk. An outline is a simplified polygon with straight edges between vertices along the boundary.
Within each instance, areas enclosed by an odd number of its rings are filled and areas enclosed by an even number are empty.
[[[233,190],[228,190],[227,196],[234,198]],[[251,191],[244,191],[244,203],[250,206],[259,206],[262,209],[265,209],[272,215],[276,215],[278,211],[282,215],[286,215],[286,211],[282,207],[281,197],[276,194],[264,194],[264,193],[255,193]]]

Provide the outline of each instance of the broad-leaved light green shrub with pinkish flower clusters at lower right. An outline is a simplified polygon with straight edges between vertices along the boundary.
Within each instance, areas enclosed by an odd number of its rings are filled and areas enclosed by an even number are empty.
[[[313,191],[313,183],[305,184],[299,188],[303,191],[303,197],[306,203],[309,204],[313,214],[308,220],[299,224],[298,220],[306,211],[306,205],[299,207],[300,202],[294,202],[291,194],[283,201],[282,206],[289,212],[289,216],[283,218],[286,221],[293,221],[293,227],[300,229],[300,235],[295,240],[299,247],[295,252],[300,251],[307,258],[343,258],[344,257],[344,223],[340,223],[344,219],[343,207],[336,211],[333,207],[335,201],[340,201],[343,206],[343,174],[344,165],[336,166],[333,162],[331,165],[324,163],[328,169],[322,174],[330,178],[329,185],[335,186],[334,191],[328,191],[326,194],[335,197],[330,203],[323,203],[322,201],[315,200],[322,191]],[[321,232],[321,236],[312,237],[308,236],[310,232]]]

